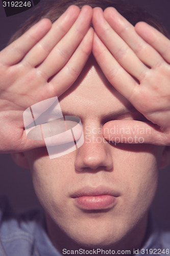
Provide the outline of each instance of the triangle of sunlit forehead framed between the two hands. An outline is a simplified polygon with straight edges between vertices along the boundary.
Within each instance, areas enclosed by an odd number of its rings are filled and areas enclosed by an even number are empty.
[[[59,97],[63,114],[81,118],[114,114],[131,107],[104,76],[98,64],[89,59],[76,82]]]

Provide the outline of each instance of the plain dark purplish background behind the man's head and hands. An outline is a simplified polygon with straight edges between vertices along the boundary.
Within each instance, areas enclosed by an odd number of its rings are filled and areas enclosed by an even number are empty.
[[[169,0],[125,0],[125,2],[135,4],[154,14],[170,33]],[[38,6],[41,7],[44,3],[49,4],[48,0],[41,0]],[[11,35],[35,12],[35,8],[6,17],[2,2],[0,4],[0,50],[2,50]],[[0,155],[0,163],[0,194],[7,195],[15,211],[20,212],[39,205],[34,193],[30,171],[16,166],[8,154]],[[152,211],[156,217],[170,224],[169,171],[170,167],[160,170],[158,190]]]

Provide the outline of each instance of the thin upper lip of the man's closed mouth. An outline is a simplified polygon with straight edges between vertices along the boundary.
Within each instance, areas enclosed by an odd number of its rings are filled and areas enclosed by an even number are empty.
[[[94,196],[103,196],[103,195],[110,195],[113,197],[119,196],[117,191],[102,185],[98,187],[85,186],[81,189],[76,190],[75,193],[71,194],[71,198],[90,197],[90,196],[94,197]]]

